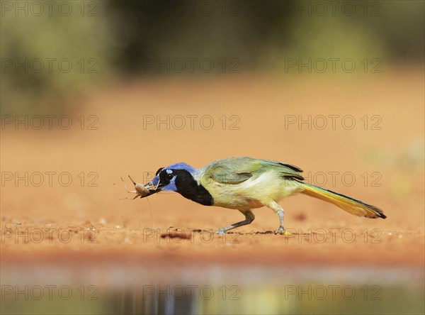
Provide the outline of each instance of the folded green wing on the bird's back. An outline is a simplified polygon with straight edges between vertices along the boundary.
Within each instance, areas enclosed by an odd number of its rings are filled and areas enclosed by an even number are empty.
[[[263,172],[274,170],[282,177],[303,180],[299,167],[271,160],[259,160],[252,157],[229,157],[206,165],[204,179],[212,179],[223,184],[239,184],[251,177],[258,177]]]

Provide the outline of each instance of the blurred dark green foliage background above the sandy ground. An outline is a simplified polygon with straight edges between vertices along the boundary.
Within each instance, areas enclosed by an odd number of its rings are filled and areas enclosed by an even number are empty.
[[[157,75],[147,59],[235,58],[273,75],[288,75],[285,58],[424,67],[424,1],[32,2],[1,2],[2,114],[60,112],[98,84]]]

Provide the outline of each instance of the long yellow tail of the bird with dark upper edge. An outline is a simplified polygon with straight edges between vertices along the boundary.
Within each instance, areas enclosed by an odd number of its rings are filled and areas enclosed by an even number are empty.
[[[382,218],[385,219],[387,216],[383,214],[383,211],[378,209],[375,206],[370,206],[370,204],[365,204],[360,200],[353,199],[351,197],[345,196],[344,194],[338,194],[336,192],[331,192],[330,190],[314,186],[312,184],[307,184],[305,182],[300,182],[304,190],[302,194],[307,194],[310,197],[318,198],[323,201],[330,202],[335,206],[354,214],[355,216],[365,216],[366,218]]]

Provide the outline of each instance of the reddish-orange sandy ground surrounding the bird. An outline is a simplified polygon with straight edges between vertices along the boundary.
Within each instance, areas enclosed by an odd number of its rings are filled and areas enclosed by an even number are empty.
[[[69,130],[7,125],[1,131],[4,266],[28,260],[70,263],[81,256],[118,264],[424,265],[421,72],[139,81],[94,91],[67,114],[73,119]],[[87,130],[94,121],[90,115],[98,118],[98,130]],[[214,126],[206,130],[197,118],[191,130],[187,118],[181,130],[174,128],[181,125],[177,120],[170,130],[165,124],[144,128],[144,115],[210,115]],[[309,115],[316,119],[311,130],[307,124],[285,126],[288,117]],[[323,130],[318,115],[327,117]],[[339,115],[335,129],[329,115]],[[351,130],[341,124],[346,115],[356,121]],[[239,130],[230,128],[235,122]],[[263,208],[254,211],[254,223],[223,238],[210,231],[241,220],[238,211],[201,206],[175,193],[155,194],[149,202],[119,199],[129,196],[120,177],[144,182],[145,172],[174,162],[200,167],[237,155],[297,165],[309,182],[325,179],[324,187],[379,206],[387,219],[358,218],[299,195],[280,202],[292,236],[251,233],[278,227],[276,215]],[[16,184],[16,175],[25,172],[28,185]],[[35,172],[43,175],[40,187]],[[51,186],[45,172],[56,172]],[[67,187],[67,177],[59,182],[61,172],[72,176]],[[97,187],[89,187],[91,179]],[[162,238],[169,227],[187,238]]]

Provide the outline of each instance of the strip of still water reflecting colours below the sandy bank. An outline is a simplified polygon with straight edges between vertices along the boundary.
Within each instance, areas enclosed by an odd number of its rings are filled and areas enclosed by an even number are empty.
[[[1,314],[425,312],[424,270],[414,268],[197,266],[142,272],[111,266],[72,275],[67,269],[6,269]]]

